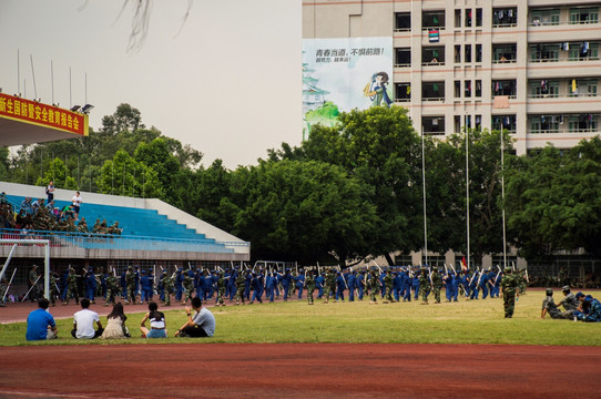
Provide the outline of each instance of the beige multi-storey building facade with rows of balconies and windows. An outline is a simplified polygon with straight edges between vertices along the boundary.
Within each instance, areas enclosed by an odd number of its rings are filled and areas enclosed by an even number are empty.
[[[599,134],[601,1],[303,0],[303,38],[393,38],[394,104],[445,136],[511,132],[518,154]]]

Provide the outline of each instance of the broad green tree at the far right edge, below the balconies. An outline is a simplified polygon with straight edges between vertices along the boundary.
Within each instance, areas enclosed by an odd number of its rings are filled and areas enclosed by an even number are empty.
[[[515,160],[508,175],[508,227],[527,260],[584,248],[601,255],[601,140],[569,151],[548,145]]]

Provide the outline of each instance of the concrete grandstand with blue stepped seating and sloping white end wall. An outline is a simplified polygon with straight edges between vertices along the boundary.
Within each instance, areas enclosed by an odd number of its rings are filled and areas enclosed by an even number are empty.
[[[0,191],[19,212],[26,197],[47,197],[44,187],[14,183],[0,183]],[[54,206],[71,203],[74,191],[57,188]],[[50,239],[51,267],[60,270],[69,265],[78,270],[92,266],[95,270],[108,267],[118,273],[130,265],[173,270],[175,267],[230,266],[249,260],[251,245],[211,224],[180,211],[160,200],[134,198],[81,192],[83,203],[80,218],[85,217],[92,229],[96,219],[109,225],[119,222],[120,235],[2,229],[2,238]],[[10,245],[0,246],[0,256],[7,257]],[[24,283],[26,270],[33,263],[41,264],[43,247],[19,246],[11,266],[20,267],[17,279]],[[11,267],[12,268],[12,267]]]

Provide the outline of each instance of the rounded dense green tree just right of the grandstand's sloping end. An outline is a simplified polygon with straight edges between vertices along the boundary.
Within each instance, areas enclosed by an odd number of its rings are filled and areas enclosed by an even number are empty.
[[[360,260],[376,231],[370,188],[339,166],[317,161],[261,162],[232,176],[232,197],[245,200],[234,234],[253,243],[258,258]],[[245,195],[236,196],[242,188]],[[232,203],[221,204],[228,209]],[[234,207],[235,208],[235,207]]]

